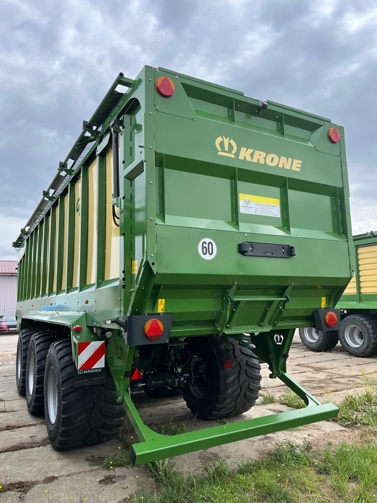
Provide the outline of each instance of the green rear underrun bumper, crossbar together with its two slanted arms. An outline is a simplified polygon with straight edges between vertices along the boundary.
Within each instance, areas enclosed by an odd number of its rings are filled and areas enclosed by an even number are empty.
[[[140,443],[134,444],[131,447],[132,464],[141,465],[199,449],[208,449],[209,447],[237,442],[238,440],[245,440],[280,430],[325,421],[338,415],[339,409],[336,405],[333,403],[320,403],[284,370],[280,370],[278,377],[305,401],[307,405],[305,408],[255,417],[253,419],[173,436],[161,435],[148,428],[143,423],[129,392],[126,391],[124,393],[123,405],[139,440],[141,440]]]

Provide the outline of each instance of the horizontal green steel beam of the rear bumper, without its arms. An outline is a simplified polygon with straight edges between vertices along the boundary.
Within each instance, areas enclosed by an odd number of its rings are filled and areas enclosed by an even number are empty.
[[[268,435],[281,430],[308,425],[309,423],[325,421],[336,417],[338,411],[338,407],[333,403],[324,403],[299,410],[290,410],[236,423],[228,423],[227,425],[214,426],[195,432],[163,436],[163,438],[134,444],[131,448],[131,460],[134,465],[138,466],[199,449],[208,449],[259,435]]]

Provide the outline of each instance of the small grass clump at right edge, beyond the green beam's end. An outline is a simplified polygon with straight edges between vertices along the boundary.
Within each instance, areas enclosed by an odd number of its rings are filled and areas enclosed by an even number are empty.
[[[368,386],[361,395],[347,395],[339,405],[337,421],[341,426],[377,428],[377,392]]]

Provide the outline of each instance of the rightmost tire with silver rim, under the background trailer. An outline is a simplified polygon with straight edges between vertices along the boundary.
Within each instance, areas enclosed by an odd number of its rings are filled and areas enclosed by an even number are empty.
[[[350,355],[377,354],[377,323],[366,314],[349,314],[340,323],[340,344]]]

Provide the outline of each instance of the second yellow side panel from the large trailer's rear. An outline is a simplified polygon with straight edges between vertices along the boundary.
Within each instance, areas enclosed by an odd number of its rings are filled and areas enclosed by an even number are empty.
[[[97,252],[97,158],[88,167],[88,216],[86,284],[96,282]]]

